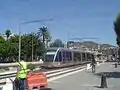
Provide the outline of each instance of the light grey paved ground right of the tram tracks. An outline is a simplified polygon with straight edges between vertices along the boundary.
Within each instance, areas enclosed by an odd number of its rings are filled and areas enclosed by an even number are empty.
[[[107,75],[108,88],[101,89],[101,73]],[[96,73],[84,70],[76,74],[49,82],[52,90],[120,90],[120,66],[115,68],[113,63],[101,64]]]

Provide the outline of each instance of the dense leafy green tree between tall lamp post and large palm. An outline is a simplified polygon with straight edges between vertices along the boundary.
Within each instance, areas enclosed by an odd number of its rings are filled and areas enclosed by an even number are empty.
[[[21,38],[22,45],[21,45],[21,56],[24,58],[27,58],[28,60],[32,60],[32,49],[33,49],[33,55],[34,59],[37,58],[37,56],[42,56],[43,53],[43,44],[38,39],[36,34],[25,34]],[[32,42],[33,40],[33,42]]]

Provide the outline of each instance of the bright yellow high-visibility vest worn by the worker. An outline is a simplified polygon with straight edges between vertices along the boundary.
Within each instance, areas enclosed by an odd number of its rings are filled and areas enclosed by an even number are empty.
[[[24,61],[19,62],[20,71],[17,73],[17,78],[26,78],[27,77],[27,64]]]

